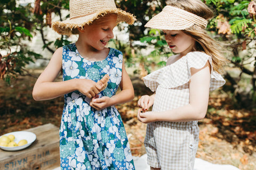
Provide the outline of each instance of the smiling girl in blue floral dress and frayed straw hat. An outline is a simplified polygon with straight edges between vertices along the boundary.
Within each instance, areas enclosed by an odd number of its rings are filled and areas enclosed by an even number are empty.
[[[78,34],[78,40],[55,51],[33,89],[35,100],[65,96],[61,169],[134,169],[115,107],[133,99],[133,86],[122,52],[106,45],[118,22],[132,24],[135,18],[116,8],[114,0],[71,0],[69,6],[70,19],[54,22],[52,28],[62,35]],[[54,82],[59,72],[63,81]],[[105,87],[102,78],[108,81]]]

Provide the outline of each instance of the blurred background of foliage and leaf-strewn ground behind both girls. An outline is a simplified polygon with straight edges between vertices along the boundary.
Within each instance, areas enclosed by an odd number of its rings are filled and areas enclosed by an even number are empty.
[[[47,39],[54,19],[69,17],[68,0],[0,1],[0,130],[1,133],[31,128],[46,122],[59,125],[63,98],[37,103],[31,89],[38,77],[37,70],[27,69],[30,62],[44,58],[29,43],[36,36],[42,38],[42,49],[53,53],[58,47],[71,43],[68,36]],[[151,71],[165,65],[172,53],[160,30],[146,29],[146,22],[165,6],[162,0],[116,0],[116,5],[137,16],[134,25],[119,24],[129,40],[114,39],[110,45],[121,50],[126,66],[131,67],[131,78],[136,98],[119,107],[127,133],[132,133],[133,154],[143,154],[143,135],[138,129],[145,126],[137,122],[137,100],[147,94],[141,79]],[[223,75],[225,86],[210,95],[206,118],[199,124],[201,139],[198,157],[215,163],[235,165],[241,169],[254,169],[256,156],[256,1],[205,0],[215,11],[207,31],[221,41],[230,63]],[[146,53],[146,52],[150,53]],[[35,78],[34,78],[35,77]],[[4,80],[4,81],[3,81]],[[128,127],[128,128],[127,128]],[[133,130],[133,131],[132,131]],[[135,135],[134,135],[135,134]],[[134,140],[132,140],[134,138]],[[139,141],[139,143],[138,143]],[[217,145],[223,146],[213,148]],[[227,147],[226,147],[227,146]],[[226,148],[225,148],[226,147]],[[229,150],[225,150],[229,149]],[[216,158],[219,156],[219,160]],[[224,160],[225,159],[225,160]],[[254,164],[253,164],[254,163]]]

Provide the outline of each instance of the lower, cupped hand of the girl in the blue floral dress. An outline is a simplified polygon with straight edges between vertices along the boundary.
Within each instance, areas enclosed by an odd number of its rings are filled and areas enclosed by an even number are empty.
[[[96,95],[91,99],[90,106],[100,111],[103,108],[106,108],[108,106],[111,106],[110,104],[110,98],[107,96],[103,96],[101,98],[98,98],[99,95]]]

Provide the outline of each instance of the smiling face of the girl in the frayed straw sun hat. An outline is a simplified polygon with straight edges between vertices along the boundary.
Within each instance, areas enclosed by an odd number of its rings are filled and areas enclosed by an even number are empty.
[[[116,26],[117,16],[109,14],[93,21],[90,25],[85,25],[79,30],[79,38],[89,49],[103,50],[111,38],[114,38],[113,29]]]

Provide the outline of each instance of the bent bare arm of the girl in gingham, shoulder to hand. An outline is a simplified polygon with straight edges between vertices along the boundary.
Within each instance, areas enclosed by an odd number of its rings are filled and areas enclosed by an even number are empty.
[[[201,120],[205,117],[210,87],[210,64],[202,69],[191,69],[189,83],[189,104],[165,112],[139,113],[138,118],[143,123],[155,121],[183,122]]]

